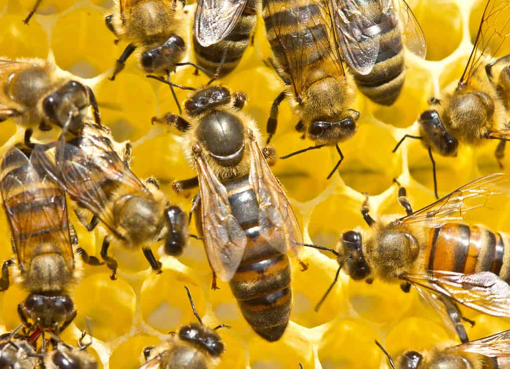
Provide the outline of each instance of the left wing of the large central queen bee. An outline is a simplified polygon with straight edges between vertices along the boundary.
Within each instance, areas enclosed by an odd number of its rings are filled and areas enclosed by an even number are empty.
[[[222,281],[234,276],[246,247],[246,234],[232,214],[223,184],[201,154],[195,157],[202,207],[202,233],[211,268]]]

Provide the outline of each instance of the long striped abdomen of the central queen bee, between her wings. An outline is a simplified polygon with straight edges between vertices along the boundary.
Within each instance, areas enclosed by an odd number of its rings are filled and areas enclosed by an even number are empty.
[[[291,311],[289,257],[259,235],[259,205],[248,177],[224,185],[232,213],[247,236],[243,259],[230,287],[253,330],[268,341],[276,341],[284,333]]]

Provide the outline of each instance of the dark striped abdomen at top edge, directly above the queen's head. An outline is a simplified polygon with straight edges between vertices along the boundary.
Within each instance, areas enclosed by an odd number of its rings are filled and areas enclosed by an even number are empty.
[[[219,76],[230,73],[241,61],[256,25],[256,2],[248,0],[237,24],[224,40],[205,47],[198,43],[196,37],[193,37],[197,64],[211,73],[218,72]]]

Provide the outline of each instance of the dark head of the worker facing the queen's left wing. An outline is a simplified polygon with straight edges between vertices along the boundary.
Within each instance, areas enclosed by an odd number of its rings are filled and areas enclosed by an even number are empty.
[[[180,256],[188,241],[188,215],[179,206],[168,206],[165,209],[165,220],[168,229],[165,253]]]

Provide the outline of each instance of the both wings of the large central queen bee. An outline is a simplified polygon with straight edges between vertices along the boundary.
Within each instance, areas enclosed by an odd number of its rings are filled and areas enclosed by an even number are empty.
[[[297,256],[302,242],[301,228],[287,196],[269,169],[259,144],[249,135],[249,184],[259,205],[259,237],[280,253],[292,250]],[[247,238],[230,207],[223,184],[201,153],[195,154],[200,201],[202,233],[209,262],[223,281],[234,276],[247,244]]]

